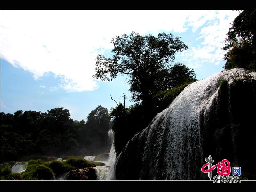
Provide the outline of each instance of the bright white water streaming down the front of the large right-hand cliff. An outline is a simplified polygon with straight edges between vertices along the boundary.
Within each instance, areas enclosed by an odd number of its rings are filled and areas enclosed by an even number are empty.
[[[251,75],[255,78],[255,73]],[[156,115],[147,128],[134,136],[127,145],[132,145],[133,139],[140,139],[145,131],[148,132],[141,161],[143,166],[150,169],[142,168],[140,179],[194,180],[197,178],[199,167],[204,160],[200,116],[207,118],[209,109],[217,100],[219,84],[223,79],[230,84],[233,78],[243,79],[245,76],[244,69],[231,69],[188,85],[167,109]],[[114,175],[112,173],[112,179],[115,179]]]

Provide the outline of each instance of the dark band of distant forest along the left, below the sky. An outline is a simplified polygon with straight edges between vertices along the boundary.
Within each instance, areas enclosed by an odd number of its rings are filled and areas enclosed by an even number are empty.
[[[87,123],[84,120],[75,122],[63,108],[47,113],[18,110],[13,115],[2,112],[1,162],[31,154],[97,155],[108,152],[108,110],[98,106],[87,119]]]

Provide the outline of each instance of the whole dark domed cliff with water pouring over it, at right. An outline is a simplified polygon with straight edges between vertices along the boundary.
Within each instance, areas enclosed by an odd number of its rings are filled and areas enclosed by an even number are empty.
[[[209,155],[255,180],[255,73],[231,69],[186,87],[127,143],[116,180],[209,180]]]

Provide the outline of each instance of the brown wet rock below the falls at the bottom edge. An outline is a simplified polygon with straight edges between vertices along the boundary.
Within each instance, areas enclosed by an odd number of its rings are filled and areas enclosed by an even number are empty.
[[[97,180],[96,170],[94,167],[71,170],[66,180]]]

